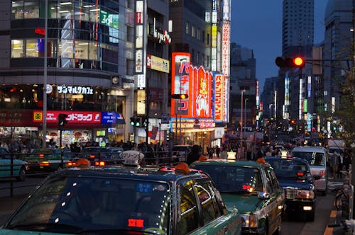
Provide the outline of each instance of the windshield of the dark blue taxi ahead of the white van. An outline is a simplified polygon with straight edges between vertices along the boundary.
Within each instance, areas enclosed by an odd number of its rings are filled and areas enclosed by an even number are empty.
[[[297,173],[307,172],[307,165],[299,161],[268,159],[268,163],[273,167],[278,179],[298,180]]]

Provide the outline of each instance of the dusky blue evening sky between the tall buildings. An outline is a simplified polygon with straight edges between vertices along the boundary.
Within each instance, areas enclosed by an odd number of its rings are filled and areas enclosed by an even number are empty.
[[[327,0],[315,0],[315,44],[324,39]],[[231,42],[253,50],[261,91],[266,78],[278,76],[282,55],[282,0],[231,0]]]

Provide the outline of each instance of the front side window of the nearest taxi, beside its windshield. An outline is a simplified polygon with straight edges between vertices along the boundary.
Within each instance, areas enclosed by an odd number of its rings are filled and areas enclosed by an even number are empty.
[[[187,234],[199,227],[198,207],[192,188],[193,180],[186,180],[178,185],[178,234]]]

